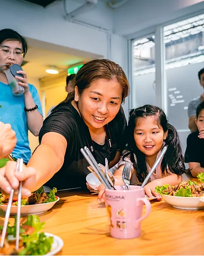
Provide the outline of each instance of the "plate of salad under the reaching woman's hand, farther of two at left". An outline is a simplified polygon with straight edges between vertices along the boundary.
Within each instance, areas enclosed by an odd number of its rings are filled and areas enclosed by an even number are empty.
[[[38,215],[47,212],[53,207],[53,205],[59,201],[59,197],[55,196],[57,192],[56,188],[53,188],[49,193],[45,193],[43,186],[40,189],[32,192],[30,197],[22,197],[20,215]],[[17,214],[17,201],[13,200],[11,205],[10,214]],[[8,198],[5,195],[0,194],[0,208],[6,212],[8,205]]]

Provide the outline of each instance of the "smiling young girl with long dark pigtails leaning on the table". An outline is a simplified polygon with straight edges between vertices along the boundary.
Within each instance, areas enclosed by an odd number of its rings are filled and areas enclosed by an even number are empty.
[[[118,163],[114,176],[121,178],[126,161],[133,163],[131,184],[141,185],[154,165],[164,142],[168,149],[156,170],[144,187],[145,193],[160,199],[155,187],[164,184],[175,185],[185,172],[179,135],[167,121],[164,111],[156,106],[144,105],[130,111],[128,122],[128,145]],[[119,177],[118,177],[119,176]]]

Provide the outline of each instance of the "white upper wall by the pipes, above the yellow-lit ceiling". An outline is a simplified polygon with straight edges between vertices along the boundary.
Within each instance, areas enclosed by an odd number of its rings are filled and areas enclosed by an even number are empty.
[[[71,6],[76,4],[73,1],[67,2]],[[0,0],[0,29],[12,28],[31,39],[107,56],[106,32],[68,22],[64,16],[62,2],[42,8],[18,0]],[[105,3],[100,2],[96,9],[77,18],[112,29],[112,16]]]

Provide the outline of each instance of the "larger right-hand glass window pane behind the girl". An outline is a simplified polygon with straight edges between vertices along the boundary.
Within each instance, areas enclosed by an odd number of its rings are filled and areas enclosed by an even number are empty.
[[[167,114],[186,147],[188,104],[203,93],[198,72],[204,67],[204,15],[164,27]]]

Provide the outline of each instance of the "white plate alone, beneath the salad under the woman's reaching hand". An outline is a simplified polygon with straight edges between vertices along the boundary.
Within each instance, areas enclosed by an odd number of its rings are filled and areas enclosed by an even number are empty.
[[[44,204],[30,204],[30,205],[21,205],[20,207],[20,215],[38,215],[44,212],[47,212],[49,209],[53,207],[53,205],[60,200],[59,197],[55,202],[44,203]],[[1,204],[0,208],[6,212],[8,205]],[[11,205],[10,214],[16,215],[17,214],[17,205]]]

